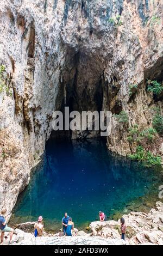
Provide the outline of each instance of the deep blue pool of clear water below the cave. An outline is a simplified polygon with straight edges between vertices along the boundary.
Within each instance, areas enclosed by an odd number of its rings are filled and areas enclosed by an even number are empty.
[[[46,228],[57,231],[67,211],[82,229],[98,219],[99,210],[109,218],[129,211],[131,201],[142,202],[143,196],[158,190],[159,182],[156,171],[110,153],[101,140],[51,140],[11,222],[34,221],[42,215]]]

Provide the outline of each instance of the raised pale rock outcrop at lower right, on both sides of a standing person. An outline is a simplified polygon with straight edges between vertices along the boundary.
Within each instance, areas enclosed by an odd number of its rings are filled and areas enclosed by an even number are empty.
[[[126,242],[129,245],[152,243],[163,245],[163,204],[156,202],[156,208],[146,214],[144,212],[130,212],[123,215],[126,225]],[[106,222],[92,222],[90,228],[93,236],[109,239],[119,239],[121,234],[120,220]]]

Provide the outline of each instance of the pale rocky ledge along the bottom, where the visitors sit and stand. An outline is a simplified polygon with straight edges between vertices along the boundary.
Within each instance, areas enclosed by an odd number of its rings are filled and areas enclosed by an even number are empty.
[[[58,233],[36,238],[34,234],[23,231],[34,224],[28,222],[19,224],[19,229],[15,229],[14,245],[163,245],[163,203],[156,202],[155,209],[148,214],[130,212],[123,217],[127,224],[126,241],[120,239],[120,220],[92,222],[89,234],[74,229],[72,237]],[[8,243],[9,237],[6,237],[2,245]]]

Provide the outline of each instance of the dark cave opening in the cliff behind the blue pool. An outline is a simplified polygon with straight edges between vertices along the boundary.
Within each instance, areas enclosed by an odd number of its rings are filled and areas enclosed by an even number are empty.
[[[82,56],[83,57],[83,56]],[[69,107],[70,113],[72,111],[78,111],[81,116],[83,111],[97,111],[99,116],[100,112],[103,110],[103,76],[100,74],[96,77],[96,81],[93,84],[90,84],[89,81],[85,79],[82,83],[82,79],[85,78],[85,73],[83,71],[83,66],[79,65],[80,59],[82,58],[80,53],[74,55],[71,62],[74,63],[73,68],[65,69],[62,73],[62,78],[60,81],[60,90],[58,93],[58,103],[57,103],[57,110],[63,113],[64,122],[65,122],[65,107]],[[83,62],[83,60],[82,60]],[[68,66],[68,65],[67,65]],[[89,68],[88,68],[89,69]],[[82,70],[82,71],[81,71]],[[91,74],[90,74],[91,76]],[[71,122],[70,118],[70,122]],[[93,119],[93,122],[95,119]],[[100,119],[99,119],[100,121]],[[82,120],[81,120],[82,124]],[[65,124],[64,124],[65,125]],[[93,123],[93,129],[95,124]],[[100,124],[99,124],[99,131],[95,132],[89,131],[89,125],[83,131],[82,129],[78,131],[77,136],[73,136],[73,132],[71,130],[67,131],[54,131],[51,132],[51,138],[76,138],[79,141],[84,141],[88,138],[97,138],[101,137],[100,133]]]

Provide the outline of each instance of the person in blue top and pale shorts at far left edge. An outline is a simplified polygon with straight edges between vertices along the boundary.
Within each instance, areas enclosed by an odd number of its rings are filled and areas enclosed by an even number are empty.
[[[10,243],[9,244],[11,244],[14,229],[8,227],[8,225],[7,225],[8,219],[7,218],[5,219],[5,217],[4,217],[6,212],[7,212],[7,209],[3,209],[1,211],[1,215],[0,215],[1,243],[3,242],[3,239],[4,239],[4,232],[10,232]]]

